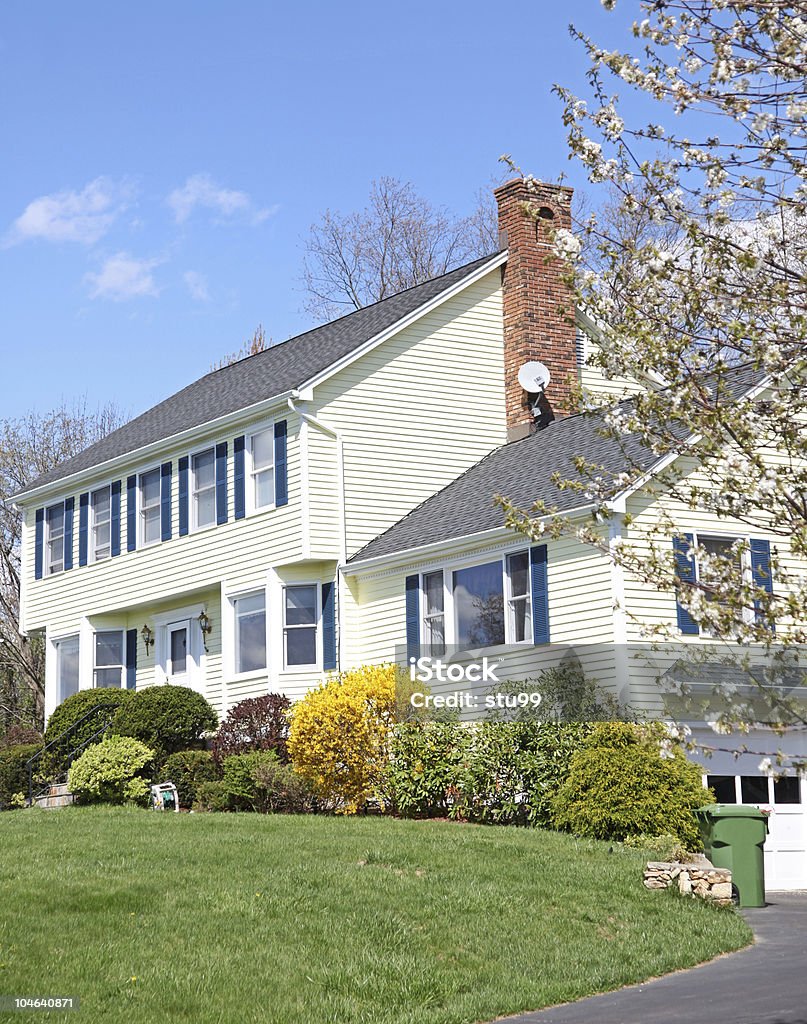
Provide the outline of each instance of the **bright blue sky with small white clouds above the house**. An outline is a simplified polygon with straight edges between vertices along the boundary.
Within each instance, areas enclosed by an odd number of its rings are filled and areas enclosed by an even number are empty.
[[[636,3],[5,0],[0,419],[86,395],[130,415],[302,311],[303,245],[373,178],[467,213],[510,153],[567,162],[575,20]]]

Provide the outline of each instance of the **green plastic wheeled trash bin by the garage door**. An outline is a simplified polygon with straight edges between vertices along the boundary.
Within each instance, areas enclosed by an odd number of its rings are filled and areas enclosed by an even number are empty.
[[[767,815],[747,804],[709,804],[695,817],[704,852],[715,867],[731,871],[739,905],[765,906]]]

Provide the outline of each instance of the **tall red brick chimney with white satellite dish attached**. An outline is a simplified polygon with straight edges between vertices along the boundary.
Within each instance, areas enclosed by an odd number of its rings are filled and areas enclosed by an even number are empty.
[[[503,271],[505,400],[509,440],[535,430],[518,370],[530,360],[549,368],[544,421],[571,412],[577,380],[575,297],[563,281],[567,264],[554,255],[552,233],[571,229],[571,188],[515,178],[494,193],[499,205],[500,245],[507,247]],[[525,212],[525,206],[530,212]],[[548,404],[547,404],[548,402]],[[551,409],[551,412],[550,412]]]

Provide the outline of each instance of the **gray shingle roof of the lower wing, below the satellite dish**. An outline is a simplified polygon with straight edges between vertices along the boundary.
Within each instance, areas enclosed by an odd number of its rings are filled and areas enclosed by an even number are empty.
[[[737,367],[726,375],[724,383],[736,396],[763,379],[764,375],[758,370]],[[630,400],[622,404],[628,407]],[[532,508],[537,501],[560,512],[585,505],[587,499],[580,492],[561,490],[552,482],[555,473],[563,479],[579,478],[576,458],[603,467],[606,479],[607,474],[620,473],[629,467],[650,469],[657,461],[657,456],[636,437],[618,440],[607,436],[600,415],[568,416],[550,423],[544,430],[496,449],[386,532],[365,545],[348,561],[358,563],[502,527],[505,517],[494,502],[496,495],[510,499],[522,509]]]

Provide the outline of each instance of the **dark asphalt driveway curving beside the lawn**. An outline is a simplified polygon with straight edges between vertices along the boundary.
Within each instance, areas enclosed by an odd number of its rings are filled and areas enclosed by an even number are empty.
[[[505,1024],[807,1024],[807,893],[742,911],[757,941],[738,953]]]

